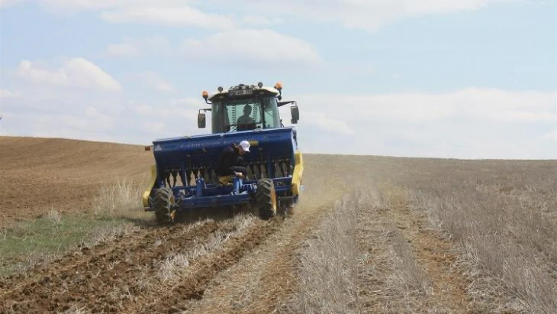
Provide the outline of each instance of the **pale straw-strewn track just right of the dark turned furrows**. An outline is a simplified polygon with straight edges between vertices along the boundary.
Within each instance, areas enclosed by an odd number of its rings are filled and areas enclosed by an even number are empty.
[[[202,299],[192,301],[186,313],[271,313],[285,310],[299,290],[295,268],[297,249],[330,206],[298,208],[280,232],[234,267],[211,280]]]

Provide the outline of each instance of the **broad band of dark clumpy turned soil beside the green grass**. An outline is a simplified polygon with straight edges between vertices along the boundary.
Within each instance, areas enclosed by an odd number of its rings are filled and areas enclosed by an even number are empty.
[[[192,228],[172,228],[135,237],[137,245],[116,244],[108,254],[92,255],[86,263],[59,272],[45,272],[38,281],[5,293],[0,298],[0,309],[2,313],[58,312],[72,305],[87,305],[94,312],[119,311],[123,303],[133,302],[135,294],[144,289],[149,269],[168,253],[187,250],[194,240],[207,239],[218,226],[208,221]]]

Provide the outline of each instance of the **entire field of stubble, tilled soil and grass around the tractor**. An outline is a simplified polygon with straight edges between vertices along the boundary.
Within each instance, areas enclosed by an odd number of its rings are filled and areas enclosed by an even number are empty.
[[[305,160],[287,219],[160,228],[142,147],[0,137],[0,313],[557,312],[557,162]]]

